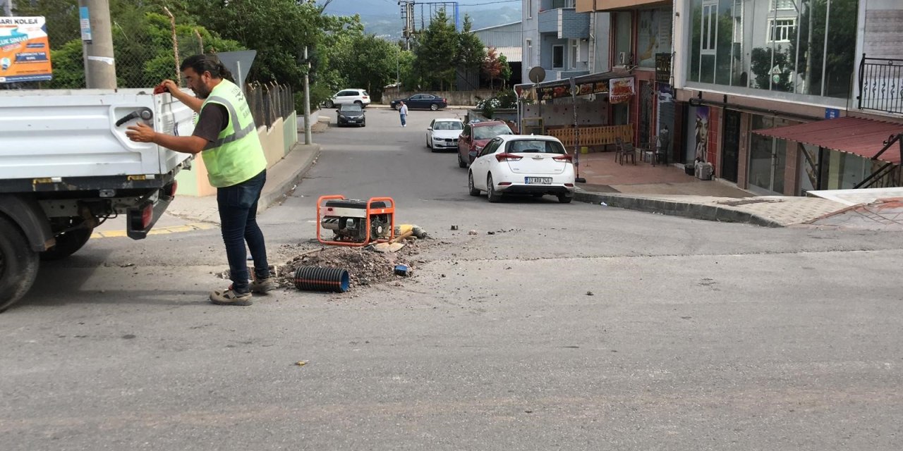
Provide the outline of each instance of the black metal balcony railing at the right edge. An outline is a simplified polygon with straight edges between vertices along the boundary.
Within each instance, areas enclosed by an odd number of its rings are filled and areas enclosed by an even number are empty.
[[[903,60],[866,58],[859,63],[859,109],[903,113]]]

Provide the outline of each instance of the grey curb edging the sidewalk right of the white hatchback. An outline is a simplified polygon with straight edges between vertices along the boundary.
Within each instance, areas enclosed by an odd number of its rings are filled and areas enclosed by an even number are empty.
[[[574,192],[573,198],[574,200],[590,204],[605,202],[609,207],[645,211],[647,213],[660,213],[669,216],[684,216],[706,221],[744,223],[763,227],[784,226],[772,219],[768,219],[768,217],[714,205],[694,204],[690,202],[679,202],[657,198],[638,198],[624,194],[595,193],[583,190]]]

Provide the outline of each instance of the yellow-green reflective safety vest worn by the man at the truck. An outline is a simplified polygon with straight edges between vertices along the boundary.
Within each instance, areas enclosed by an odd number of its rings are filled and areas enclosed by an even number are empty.
[[[207,166],[210,185],[231,187],[266,169],[264,147],[260,144],[254,116],[240,87],[227,79],[220,81],[200,110],[203,111],[204,106],[211,103],[226,107],[228,125],[219,132],[216,142],[207,145],[201,156]],[[198,118],[194,122],[197,124]]]

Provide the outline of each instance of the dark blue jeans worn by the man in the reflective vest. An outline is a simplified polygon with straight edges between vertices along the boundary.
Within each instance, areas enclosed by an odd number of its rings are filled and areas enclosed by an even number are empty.
[[[245,243],[254,259],[257,280],[270,277],[269,263],[266,262],[264,233],[257,226],[257,201],[264,189],[266,170],[231,187],[217,189],[219,223],[226,244],[229,278],[232,290],[247,293],[247,253]]]

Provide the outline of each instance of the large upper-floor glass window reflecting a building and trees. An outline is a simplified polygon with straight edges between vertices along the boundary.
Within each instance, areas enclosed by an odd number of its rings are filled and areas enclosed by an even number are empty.
[[[859,0],[690,3],[688,82],[850,97]]]

